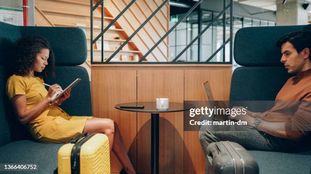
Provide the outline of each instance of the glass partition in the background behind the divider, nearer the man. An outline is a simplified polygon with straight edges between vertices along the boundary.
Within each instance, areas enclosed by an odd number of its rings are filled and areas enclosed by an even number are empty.
[[[170,40],[170,61],[174,59],[189,42],[198,35],[199,29],[204,29],[219,13],[207,10],[198,10],[177,26],[169,35]],[[228,14],[228,13],[227,13]],[[173,26],[183,14],[172,15],[170,27]],[[200,26],[201,24],[201,26]],[[235,33],[243,27],[255,26],[274,26],[275,22],[267,20],[252,19],[247,17],[233,16],[233,39]],[[179,59],[182,62],[205,62],[212,54],[219,49],[225,40],[230,37],[230,15],[226,15],[226,31],[223,32],[223,16],[220,16]],[[225,47],[225,56],[223,50],[214,55],[208,62],[228,62],[230,54],[230,44]],[[226,58],[224,60],[224,57]],[[233,69],[238,65],[232,60]]]

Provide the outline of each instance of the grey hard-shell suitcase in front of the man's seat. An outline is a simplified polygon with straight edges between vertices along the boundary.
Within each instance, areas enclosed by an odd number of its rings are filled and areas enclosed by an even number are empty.
[[[211,143],[207,146],[205,173],[259,173],[259,167],[253,156],[241,145],[223,141]]]

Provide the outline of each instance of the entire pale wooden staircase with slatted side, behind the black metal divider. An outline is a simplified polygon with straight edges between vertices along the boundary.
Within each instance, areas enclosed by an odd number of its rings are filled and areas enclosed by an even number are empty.
[[[36,26],[79,27],[85,31],[88,56],[82,65],[90,74],[90,4],[89,0],[36,0]],[[104,27],[131,0],[104,1]],[[96,1],[95,1],[96,3]],[[104,59],[125,41],[157,9],[163,0],[137,0],[104,34]],[[101,6],[94,12],[94,38],[101,32]],[[113,59],[130,62],[141,58],[169,29],[169,5],[166,4]],[[166,62],[169,57],[168,37],[146,58],[150,62]],[[101,40],[94,45],[94,61],[101,60]]]

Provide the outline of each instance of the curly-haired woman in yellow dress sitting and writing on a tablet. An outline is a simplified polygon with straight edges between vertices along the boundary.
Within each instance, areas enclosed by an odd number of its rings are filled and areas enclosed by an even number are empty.
[[[54,55],[48,41],[40,36],[26,36],[16,40],[10,60],[11,76],[6,85],[7,95],[18,120],[30,134],[46,143],[63,143],[81,133],[102,133],[109,138],[112,150],[128,173],[135,173],[121,138],[117,124],[108,118],[69,116],[58,106],[70,97],[68,90],[56,102],[55,93],[61,90],[53,84],[47,91],[43,78],[54,73]]]

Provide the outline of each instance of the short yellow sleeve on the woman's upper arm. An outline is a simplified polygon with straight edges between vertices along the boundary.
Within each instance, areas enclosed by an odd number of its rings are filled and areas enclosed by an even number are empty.
[[[26,82],[22,79],[22,77],[12,75],[7,81],[6,92],[9,100],[11,100],[16,95],[25,95]]]

